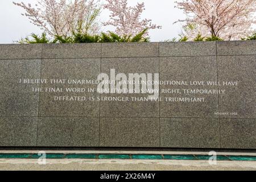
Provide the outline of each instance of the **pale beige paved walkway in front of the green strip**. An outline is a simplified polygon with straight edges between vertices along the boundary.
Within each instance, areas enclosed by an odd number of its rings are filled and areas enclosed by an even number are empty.
[[[256,162],[207,160],[115,160],[115,159],[47,159],[38,164],[37,159],[0,159],[0,170],[254,170]]]

